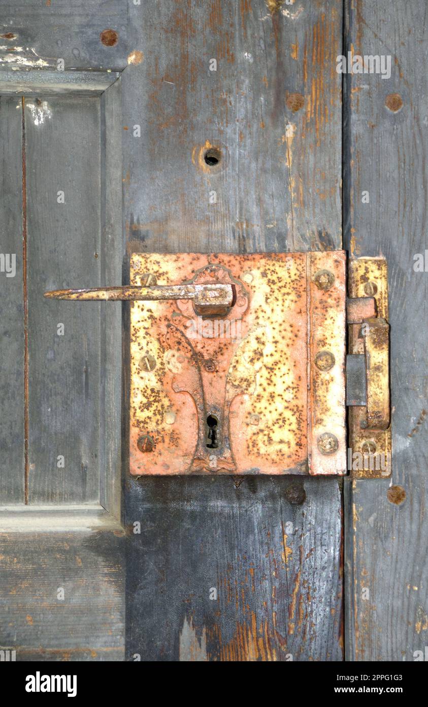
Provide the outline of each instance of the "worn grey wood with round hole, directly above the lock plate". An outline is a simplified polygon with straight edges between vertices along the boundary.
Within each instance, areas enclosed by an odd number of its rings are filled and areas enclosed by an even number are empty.
[[[133,250],[340,247],[342,4],[269,5],[130,6],[129,49],[144,51],[126,69]],[[222,151],[214,169],[210,145]]]

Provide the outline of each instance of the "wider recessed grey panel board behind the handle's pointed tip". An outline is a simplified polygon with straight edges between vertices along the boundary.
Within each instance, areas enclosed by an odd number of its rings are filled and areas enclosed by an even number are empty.
[[[100,305],[43,293],[100,283],[99,98],[26,99],[25,156],[29,503],[88,503],[100,494]]]

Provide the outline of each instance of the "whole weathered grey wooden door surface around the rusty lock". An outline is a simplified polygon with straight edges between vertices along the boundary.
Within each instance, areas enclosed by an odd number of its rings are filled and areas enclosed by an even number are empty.
[[[426,346],[412,326],[426,86],[404,52],[413,33],[426,51],[422,0],[393,18],[386,0],[2,10],[0,213],[16,272],[4,259],[1,648],[17,660],[413,660],[428,620]],[[336,70],[344,46],[385,43],[388,81]],[[390,265],[405,501],[389,481],[132,479],[129,305],[43,292],[129,284],[133,252],[342,247]]]

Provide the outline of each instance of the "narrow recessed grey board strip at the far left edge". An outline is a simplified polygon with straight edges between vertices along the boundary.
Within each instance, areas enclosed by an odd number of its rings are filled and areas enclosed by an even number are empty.
[[[0,499],[1,503],[23,503],[24,308],[20,98],[0,98],[0,134]]]

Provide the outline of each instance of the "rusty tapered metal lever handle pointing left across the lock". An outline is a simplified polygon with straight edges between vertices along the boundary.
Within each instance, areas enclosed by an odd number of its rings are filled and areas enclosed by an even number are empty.
[[[231,307],[234,300],[232,285],[153,285],[91,287],[81,290],[52,290],[44,297],[55,300],[194,300],[202,310]]]

